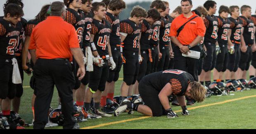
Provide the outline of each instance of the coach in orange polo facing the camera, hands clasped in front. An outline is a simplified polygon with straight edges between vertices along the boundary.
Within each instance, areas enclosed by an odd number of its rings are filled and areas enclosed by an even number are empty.
[[[173,48],[174,69],[188,72],[194,77],[195,81],[198,81],[196,65],[198,59],[184,57],[182,53],[189,53],[190,50],[200,52],[199,42],[203,39],[206,28],[202,18],[197,16],[194,12],[191,12],[193,7],[191,0],[181,0],[181,7],[183,14],[173,20],[169,35],[171,36],[171,41],[176,45]],[[194,18],[195,16],[197,17]],[[189,21],[192,18],[194,19]],[[186,23],[187,21],[189,22]],[[185,24],[185,26],[178,35],[177,30],[183,24]]]

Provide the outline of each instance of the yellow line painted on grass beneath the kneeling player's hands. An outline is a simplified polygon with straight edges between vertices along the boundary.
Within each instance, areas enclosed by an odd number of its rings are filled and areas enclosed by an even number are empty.
[[[237,98],[237,99],[228,99],[228,100],[225,100],[223,102],[217,102],[217,103],[206,104],[206,105],[201,105],[201,106],[194,106],[194,107],[188,108],[187,110],[199,109],[199,108],[206,107],[206,106],[213,106],[213,105],[224,104],[224,103],[228,103],[228,102],[234,102],[234,101],[237,101],[237,100],[248,99],[248,98],[251,98],[251,97],[256,97],[256,95],[245,96],[245,97],[241,97],[241,98]],[[174,112],[177,113],[177,112],[181,112],[181,111],[182,110],[178,110],[178,111],[174,111]],[[150,117],[151,116],[143,116],[143,117],[140,117],[140,118],[133,118],[133,119],[128,119],[128,120],[120,120],[120,121],[115,121],[115,122],[108,122],[108,123],[103,123],[103,124],[100,124],[100,125],[83,127],[81,129],[93,129],[93,128],[97,128],[97,127],[103,127],[103,126],[113,125],[113,124],[118,124],[118,123],[123,123],[123,122],[130,122],[130,121],[133,121],[133,120],[140,120],[140,119],[145,119],[145,118],[150,118]]]

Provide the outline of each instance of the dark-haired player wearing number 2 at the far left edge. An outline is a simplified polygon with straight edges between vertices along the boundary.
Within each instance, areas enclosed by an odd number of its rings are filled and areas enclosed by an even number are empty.
[[[4,17],[0,18],[0,102],[2,115],[8,119],[10,129],[24,129],[24,127],[16,125],[10,117],[11,100],[16,96],[16,84],[21,83],[19,80],[12,79],[12,75],[18,77],[20,75],[13,74],[13,71],[14,69],[19,71],[14,67],[14,64],[17,64],[15,48],[19,44],[19,36],[22,31],[20,21],[23,15],[22,8],[11,3],[5,7]]]

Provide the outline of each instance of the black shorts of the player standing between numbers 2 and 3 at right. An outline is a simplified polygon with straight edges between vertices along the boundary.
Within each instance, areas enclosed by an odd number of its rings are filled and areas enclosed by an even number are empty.
[[[234,44],[235,46],[235,53],[228,54],[228,67],[227,69],[230,72],[237,72],[238,64],[240,61],[240,44]]]

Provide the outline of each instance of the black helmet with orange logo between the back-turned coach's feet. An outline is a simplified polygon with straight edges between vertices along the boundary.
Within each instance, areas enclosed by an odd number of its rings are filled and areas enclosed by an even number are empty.
[[[49,115],[49,120],[62,126],[65,121],[62,109],[53,109]]]

